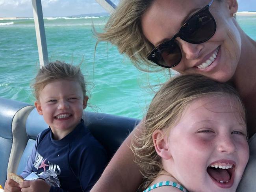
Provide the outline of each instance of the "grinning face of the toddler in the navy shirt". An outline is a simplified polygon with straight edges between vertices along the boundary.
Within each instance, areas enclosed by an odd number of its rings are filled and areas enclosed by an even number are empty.
[[[35,102],[37,111],[54,133],[54,139],[68,135],[79,124],[87,98],[77,81],[65,79],[48,83]]]

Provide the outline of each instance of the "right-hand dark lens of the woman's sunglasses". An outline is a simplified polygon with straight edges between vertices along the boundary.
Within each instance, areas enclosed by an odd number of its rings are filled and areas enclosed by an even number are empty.
[[[216,23],[208,9],[193,15],[182,26],[180,36],[190,43],[208,41],[216,31]]]

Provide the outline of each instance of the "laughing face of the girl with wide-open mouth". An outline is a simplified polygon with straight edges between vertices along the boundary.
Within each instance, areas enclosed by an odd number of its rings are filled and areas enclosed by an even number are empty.
[[[191,192],[235,192],[249,159],[241,106],[228,96],[193,101],[167,134],[164,169]]]

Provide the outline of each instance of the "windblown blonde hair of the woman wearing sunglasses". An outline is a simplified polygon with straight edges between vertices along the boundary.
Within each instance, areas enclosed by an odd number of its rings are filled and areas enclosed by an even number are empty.
[[[109,41],[117,46],[121,54],[130,57],[134,65],[143,70],[145,63],[156,66],[147,60],[147,55],[154,48],[143,35],[141,17],[154,0],[121,0],[111,14],[103,33],[95,34],[99,41]],[[97,43],[98,43],[97,42]]]

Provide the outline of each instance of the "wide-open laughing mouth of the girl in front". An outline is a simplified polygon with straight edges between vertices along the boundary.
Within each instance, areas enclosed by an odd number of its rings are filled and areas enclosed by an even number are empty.
[[[235,169],[234,164],[215,163],[208,166],[207,173],[217,186],[230,188],[234,183]]]

